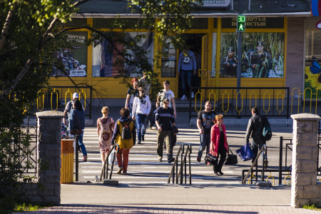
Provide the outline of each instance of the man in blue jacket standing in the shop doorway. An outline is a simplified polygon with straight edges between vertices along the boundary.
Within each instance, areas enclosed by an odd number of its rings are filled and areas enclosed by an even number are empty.
[[[196,59],[193,51],[188,51],[186,48],[180,52],[178,58],[178,76],[182,80],[183,96],[180,98],[181,101],[187,100],[188,89],[190,89],[192,83],[192,73],[196,74]],[[186,81],[188,88],[186,88]],[[191,94],[191,98],[194,98],[194,93]]]

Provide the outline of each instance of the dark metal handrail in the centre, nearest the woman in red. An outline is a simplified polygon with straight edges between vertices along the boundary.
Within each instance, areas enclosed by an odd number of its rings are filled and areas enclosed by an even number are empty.
[[[185,151],[185,146],[187,146],[186,151]],[[184,155],[185,151],[185,155]],[[186,183],[186,178],[187,178],[187,156],[188,156],[188,170],[189,170],[189,180],[190,184],[192,184],[192,177],[191,177],[191,167],[190,167],[190,154],[192,153],[192,146],[190,143],[182,143],[180,145],[180,148],[178,148],[178,152],[176,154],[175,161],[173,163],[172,169],[170,170],[170,174],[168,176],[167,183],[170,183],[170,177],[173,175],[173,183],[175,183],[175,175],[176,175],[176,183],[178,183],[178,178],[180,177],[180,184],[183,184],[183,168],[184,168],[184,173],[185,173],[185,183]],[[180,170],[178,172],[178,157],[180,156]],[[175,167],[176,166],[176,167]],[[174,173],[175,171],[175,173]]]

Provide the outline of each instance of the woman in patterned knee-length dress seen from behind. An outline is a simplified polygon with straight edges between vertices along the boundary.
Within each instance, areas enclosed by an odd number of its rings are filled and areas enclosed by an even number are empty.
[[[105,159],[111,149],[111,137],[113,136],[115,122],[113,118],[108,118],[109,108],[107,106],[101,109],[101,113],[103,113],[103,116],[97,119],[97,132],[99,149],[101,151],[101,163],[105,163]]]

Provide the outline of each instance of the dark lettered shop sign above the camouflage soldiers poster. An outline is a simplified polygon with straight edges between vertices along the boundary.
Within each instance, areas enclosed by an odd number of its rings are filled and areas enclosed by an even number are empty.
[[[238,17],[222,19],[223,29],[235,29],[238,27]],[[282,17],[245,17],[246,29],[283,29],[284,18]],[[245,29],[244,28],[244,29]]]

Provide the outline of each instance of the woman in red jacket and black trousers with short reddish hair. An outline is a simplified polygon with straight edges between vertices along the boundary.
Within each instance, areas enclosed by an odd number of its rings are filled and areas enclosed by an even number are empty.
[[[215,116],[215,125],[210,128],[210,153],[216,158],[213,165],[215,175],[223,175],[222,167],[228,153],[228,140],[226,138],[225,126],[223,125],[223,115],[218,114]]]

